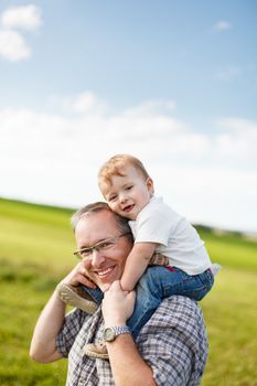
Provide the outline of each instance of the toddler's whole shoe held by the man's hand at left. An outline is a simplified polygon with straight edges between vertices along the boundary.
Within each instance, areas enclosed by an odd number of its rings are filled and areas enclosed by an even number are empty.
[[[87,313],[94,313],[98,305],[95,303],[82,286],[71,286],[60,282],[56,287],[60,299],[69,305],[76,307]]]

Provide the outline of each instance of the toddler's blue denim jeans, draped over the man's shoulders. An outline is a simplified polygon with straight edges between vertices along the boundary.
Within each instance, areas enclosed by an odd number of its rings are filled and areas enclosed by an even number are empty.
[[[210,269],[200,275],[188,275],[175,267],[151,266],[139,280],[136,291],[137,299],[133,313],[127,321],[136,339],[141,328],[149,321],[164,298],[182,294],[194,300],[201,300],[213,287],[214,278]],[[99,288],[84,287],[99,304],[103,292]]]

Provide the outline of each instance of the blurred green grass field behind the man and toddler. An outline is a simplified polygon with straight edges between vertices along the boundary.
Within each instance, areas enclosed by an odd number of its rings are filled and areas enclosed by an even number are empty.
[[[66,361],[28,355],[35,321],[75,264],[72,211],[0,200],[0,385],[64,385]],[[257,242],[199,229],[223,266],[201,303],[210,337],[203,386],[257,385]],[[132,385],[131,385],[132,386]]]

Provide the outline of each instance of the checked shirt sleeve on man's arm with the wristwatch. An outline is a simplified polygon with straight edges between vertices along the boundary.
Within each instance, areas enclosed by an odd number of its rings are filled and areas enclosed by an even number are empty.
[[[197,303],[165,299],[139,334],[138,349],[159,386],[196,386],[207,360],[207,336]]]

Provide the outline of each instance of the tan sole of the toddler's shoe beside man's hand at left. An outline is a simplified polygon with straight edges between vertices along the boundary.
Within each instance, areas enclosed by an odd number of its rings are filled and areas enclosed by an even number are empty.
[[[79,297],[75,291],[73,291],[67,285],[58,283],[56,287],[60,299],[69,305],[76,307],[89,314],[96,312],[98,305],[94,301],[89,301]]]

